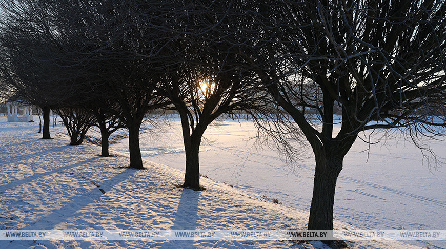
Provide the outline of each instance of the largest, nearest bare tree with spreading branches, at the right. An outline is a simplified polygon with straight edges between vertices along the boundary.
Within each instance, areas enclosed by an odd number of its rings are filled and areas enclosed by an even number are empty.
[[[241,54],[312,147],[308,229],[333,229],[336,179],[359,132],[397,128],[416,144],[444,135],[444,118],[421,110],[446,104],[445,11],[443,1],[258,5],[253,20],[267,28]]]

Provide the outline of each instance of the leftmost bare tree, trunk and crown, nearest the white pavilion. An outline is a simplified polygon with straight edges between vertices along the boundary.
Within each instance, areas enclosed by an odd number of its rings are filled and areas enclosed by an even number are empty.
[[[9,91],[42,109],[42,138],[50,139],[50,110],[78,91],[62,65],[52,62],[62,47],[50,28],[49,8],[42,1],[2,1],[0,12],[0,76]]]

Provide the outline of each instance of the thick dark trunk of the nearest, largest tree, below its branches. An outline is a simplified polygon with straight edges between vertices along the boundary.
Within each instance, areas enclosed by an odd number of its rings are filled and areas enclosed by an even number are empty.
[[[342,170],[342,160],[343,157],[316,155],[308,230],[333,230],[334,195],[336,180]]]

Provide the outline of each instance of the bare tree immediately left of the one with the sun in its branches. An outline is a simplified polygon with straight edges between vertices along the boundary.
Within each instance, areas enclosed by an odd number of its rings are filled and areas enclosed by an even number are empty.
[[[117,103],[117,108],[97,107],[118,117],[129,130],[130,167],[143,169],[141,123],[150,111],[167,104],[156,92],[159,77],[152,64],[165,44],[158,40],[156,19],[147,17],[151,10],[133,0],[47,2],[56,13],[54,25],[60,37],[70,41],[58,60],[78,69],[69,77],[88,92],[88,99]]]

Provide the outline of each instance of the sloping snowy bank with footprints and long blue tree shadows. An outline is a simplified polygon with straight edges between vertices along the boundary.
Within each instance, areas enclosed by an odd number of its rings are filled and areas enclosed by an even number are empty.
[[[123,168],[125,154],[97,156],[93,144],[38,139],[38,123],[0,118],[1,230],[301,230],[308,213],[202,178],[207,190],[174,188],[183,173],[145,161]],[[169,155],[165,155],[169,157]],[[98,188],[98,186],[100,186]],[[101,191],[102,190],[102,191]],[[103,193],[104,192],[104,193]],[[356,229],[335,221],[340,229]],[[399,241],[353,241],[352,248],[409,248]],[[0,240],[0,248],[324,248],[318,241]],[[327,248],[327,247],[325,247]]]

